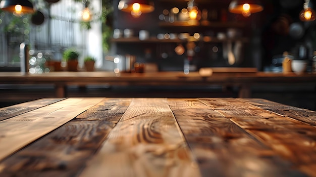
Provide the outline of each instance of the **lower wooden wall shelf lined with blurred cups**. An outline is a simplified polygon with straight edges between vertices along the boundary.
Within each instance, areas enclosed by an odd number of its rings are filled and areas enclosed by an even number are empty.
[[[130,38],[118,38],[118,39],[111,39],[112,42],[118,43],[184,43],[188,40],[185,39],[157,39],[155,37],[151,37],[147,40],[139,40],[138,37],[130,37]],[[232,39],[218,39],[217,37],[209,37],[204,36],[200,40],[195,41],[203,41],[203,42],[228,42],[228,41],[241,41],[241,42],[248,42],[248,38],[239,37],[239,38],[232,38]]]

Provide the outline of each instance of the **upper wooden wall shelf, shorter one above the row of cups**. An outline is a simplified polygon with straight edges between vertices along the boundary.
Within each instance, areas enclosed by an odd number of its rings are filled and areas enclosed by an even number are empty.
[[[160,22],[160,27],[208,27],[208,28],[244,28],[243,22],[176,21]]]

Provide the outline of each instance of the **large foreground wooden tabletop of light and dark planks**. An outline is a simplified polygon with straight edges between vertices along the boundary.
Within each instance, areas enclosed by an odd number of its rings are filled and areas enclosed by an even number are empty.
[[[315,126],[264,99],[44,98],[0,109],[0,176],[316,176]]]

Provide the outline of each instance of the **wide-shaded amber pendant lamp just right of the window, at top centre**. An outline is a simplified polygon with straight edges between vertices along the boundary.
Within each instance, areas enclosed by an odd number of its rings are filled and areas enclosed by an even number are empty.
[[[129,12],[133,17],[138,18],[142,13],[150,13],[154,10],[153,2],[149,0],[121,0],[118,9]]]

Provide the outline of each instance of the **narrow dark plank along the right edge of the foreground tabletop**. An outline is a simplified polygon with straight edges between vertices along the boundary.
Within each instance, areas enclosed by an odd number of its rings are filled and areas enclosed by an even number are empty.
[[[289,106],[263,99],[240,99],[248,101],[250,104],[261,107],[262,109],[275,112],[277,114],[291,117],[292,119],[316,126],[316,111]]]

